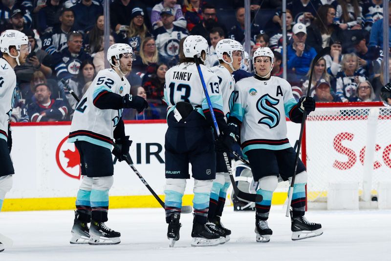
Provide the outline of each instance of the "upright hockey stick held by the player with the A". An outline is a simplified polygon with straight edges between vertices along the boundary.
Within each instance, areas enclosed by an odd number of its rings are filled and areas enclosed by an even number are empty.
[[[309,97],[310,92],[311,92],[312,74],[314,72],[314,67],[315,67],[316,62],[318,62],[318,60],[322,56],[326,55],[329,52],[330,52],[330,47],[325,47],[322,50],[320,50],[320,52],[318,52],[318,54],[312,60],[312,66],[311,66],[311,72],[309,74],[309,83],[308,83],[308,89],[307,89],[306,97]],[[299,136],[299,142],[297,144],[296,160],[295,160],[295,170],[293,171],[292,181],[291,181],[291,184],[290,184],[290,190],[289,190],[289,195],[288,195],[288,205],[286,206],[286,213],[285,213],[285,216],[287,216],[287,217],[289,216],[290,204],[292,202],[292,196],[293,196],[293,186],[295,185],[295,177],[296,177],[296,173],[297,173],[297,166],[299,165],[299,152],[300,152],[300,148],[302,146],[305,119],[307,119],[307,111],[306,110],[304,110],[304,112],[303,112],[303,119],[302,119],[302,123],[300,125],[300,136]]]

